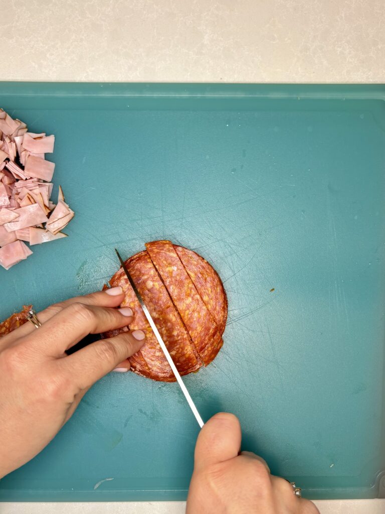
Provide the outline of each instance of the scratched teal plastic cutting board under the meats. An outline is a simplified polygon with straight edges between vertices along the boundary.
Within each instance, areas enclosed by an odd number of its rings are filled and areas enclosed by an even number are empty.
[[[0,269],[0,318],[101,289],[146,241],[203,255],[224,346],[185,377],[204,419],[310,498],[378,494],[384,457],[385,87],[0,84],[55,134],[69,237]],[[109,374],[1,500],[186,497],[198,426],[179,387]],[[110,479],[110,480],[105,480]],[[104,481],[104,482],[101,482]]]

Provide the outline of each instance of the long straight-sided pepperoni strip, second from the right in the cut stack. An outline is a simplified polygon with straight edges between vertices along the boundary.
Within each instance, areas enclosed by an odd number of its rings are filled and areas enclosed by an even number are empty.
[[[223,344],[216,322],[188,276],[171,241],[153,241],[145,246],[198,354],[207,365]]]

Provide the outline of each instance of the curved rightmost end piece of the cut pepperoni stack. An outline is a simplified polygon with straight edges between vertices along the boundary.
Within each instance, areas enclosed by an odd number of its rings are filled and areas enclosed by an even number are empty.
[[[222,335],[227,320],[227,297],[218,273],[198,253],[183,246],[174,245],[174,248]]]

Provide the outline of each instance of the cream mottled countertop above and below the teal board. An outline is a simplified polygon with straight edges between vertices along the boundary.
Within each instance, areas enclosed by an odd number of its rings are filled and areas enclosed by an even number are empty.
[[[9,0],[0,81],[385,83],[383,0]],[[385,500],[317,502],[379,514]],[[0,503],[0,514],[182,514],[184,503]]]

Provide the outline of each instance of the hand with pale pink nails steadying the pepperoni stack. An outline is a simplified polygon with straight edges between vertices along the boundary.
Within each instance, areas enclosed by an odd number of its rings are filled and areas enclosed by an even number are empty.
[[[66,355],[88,334],[132,322],[121,287],[73,298],[37,314],[0,338],[0,478],[40,452],[71,417],[94,382],[143,346],[142,331],[124,332]]]

